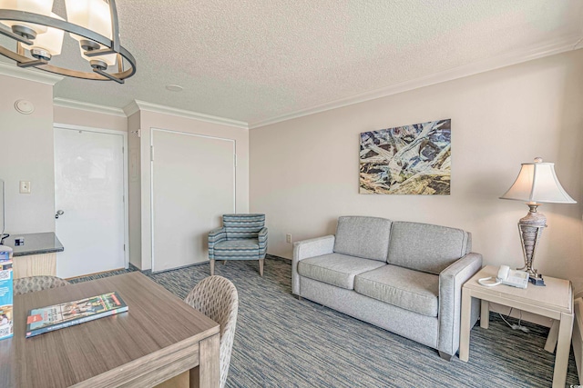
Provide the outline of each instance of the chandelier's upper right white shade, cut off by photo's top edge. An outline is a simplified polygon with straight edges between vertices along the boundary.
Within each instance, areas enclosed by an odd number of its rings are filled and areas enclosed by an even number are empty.
[[[66,18],[70,23],[80,25],[97,34],[111,39],[111,12],[104,0],[65,0]],[[74,39],[87,39],[71,34]]]

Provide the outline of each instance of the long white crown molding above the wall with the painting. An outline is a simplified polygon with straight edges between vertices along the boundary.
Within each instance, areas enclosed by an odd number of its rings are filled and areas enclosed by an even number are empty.
[[[583,46],[583,38],[581,35],[571,35],[563,37],[554,41],[547,42],[544,45],[536,45],[523,48],[522,50],[515,50],[506,55],[498,55],[496,57],[488,58],[483,61],[478,61],[473,64],[462,65],[448,69],[432,75],[424,75],[414,78],[402,83],[389,85],[380,89],[375,89],[359,95],[352,95],[340,100],[335,100],[325,104],[319,104],[308,109],[301,109],[291,112],[289,114],[281,114],[270,119],[250,123],[249,128],[259,128],[261,126],[281,123],[283,121],[292,120],[294,118],[303,117],[310,114],[318,114],[343,106],[363,103],[365,101],[374,100],[377,98],[386,97],[389,95],[397,95],[410,90],[418,89],[424,86],[441,84],[447,81],[453,81],[458,78],[463,78],[468,75],[476,75],[485,73],[490,70],[496,70],[501,67],[510,65],[517,65],[523,62],[532,61],[534,59],[542,58],[549,55],[557,55],[567,51],[576,50]]]

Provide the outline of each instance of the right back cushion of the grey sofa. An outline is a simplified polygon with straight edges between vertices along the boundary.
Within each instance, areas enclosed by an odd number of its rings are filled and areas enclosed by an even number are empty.
[[[461,229],[394,222],[387,263],[439,274],[471,249],[472,235]]]

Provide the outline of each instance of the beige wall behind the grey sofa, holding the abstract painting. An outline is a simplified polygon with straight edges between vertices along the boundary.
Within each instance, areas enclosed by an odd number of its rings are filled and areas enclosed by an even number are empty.
[[[544,204],[535,267],[583,276],[580,147],[583,50],[432,85],[250,131],[251,212],[267,214],[269,253],[292,257],[293,240],[333,234],[339,215],[442,224],[473,234],[486,264],[523,263],[517,221],[527,205],[500,200],[521,163],[555,162],[578,204]],[[451,195],[358,194],[359,134],[452,119]]]

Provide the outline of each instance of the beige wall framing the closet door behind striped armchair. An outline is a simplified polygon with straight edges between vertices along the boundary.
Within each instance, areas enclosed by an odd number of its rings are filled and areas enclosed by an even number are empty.
[[[191,118],[140,110],[140,186],[141,186],[141,264],[142,270],[151,268],[151,195],[150,195],[150,130],[168,129],[189,134],[207,134],[232,139],[236,144],[237,187],[235,201],[238,213],[249,212],[249,131],[224,124],[212,124]],[[131,201],[131,200],[130,200]],[[134,218],[130,214],[130,220]],[[172,226],[172,225],[169,225]],[[175,225],[176,226],[176,225]],[[178,227],[178,226],[177,226]],[[131,234],[131,233],[130,233]],[[134,264],[132,262],[132,264]]]

